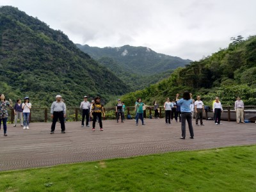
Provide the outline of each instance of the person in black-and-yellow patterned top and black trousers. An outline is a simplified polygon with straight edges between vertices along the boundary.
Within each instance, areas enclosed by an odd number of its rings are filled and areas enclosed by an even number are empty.
[[[95,97],[91,111],[91,116],[93,116],[92,131],[95,131],[95,123],[97,118],[99,119],[100,131],[103,131],[101,113],[103,113],[103,117],[105,117],[104,108],[102,104],[100,104],[100,97]]]

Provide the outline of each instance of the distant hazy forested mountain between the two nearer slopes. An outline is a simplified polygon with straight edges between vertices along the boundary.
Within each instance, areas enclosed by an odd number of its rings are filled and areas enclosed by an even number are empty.
[[[159,54],[148,47],[125,45],[99,48],[80,44],[77,47],[109,68],[134,91],[169,77],[175,68],[184,67],[191,62]]]

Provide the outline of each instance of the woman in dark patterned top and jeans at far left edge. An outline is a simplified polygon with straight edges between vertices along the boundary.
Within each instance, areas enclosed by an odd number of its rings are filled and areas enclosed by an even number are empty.
[[[12,107],[12,99],[5,100],[4,94],[0,95],[0,129],[3,122],[4,136],[7,136],[8,107]]]

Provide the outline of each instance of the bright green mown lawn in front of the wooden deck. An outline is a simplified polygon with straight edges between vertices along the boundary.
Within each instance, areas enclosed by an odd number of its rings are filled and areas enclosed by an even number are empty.
[[[256,191],[256,145],[0,172],[0,191]]]

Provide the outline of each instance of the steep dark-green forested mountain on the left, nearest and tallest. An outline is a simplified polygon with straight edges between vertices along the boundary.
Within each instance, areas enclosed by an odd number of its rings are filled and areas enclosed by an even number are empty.
[[[33,106],[50,106],[56,94],[77,106],[83,95],[108,100],[130,90],[63,32],[12,6],[0,7],[0,77],[1,93],[28,95]]]

